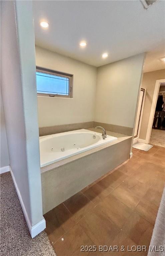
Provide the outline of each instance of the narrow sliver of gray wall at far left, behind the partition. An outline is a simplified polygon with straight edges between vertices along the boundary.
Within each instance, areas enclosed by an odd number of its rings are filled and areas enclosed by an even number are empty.
[[[1,152],[1,158],[0,158],[0,167],[4,167],[9,165],[9,153],[8,153],[8,146],[7,146],[7,138],[6,138],[6,126],[5,126],[5,118],[4,118],[4,112],[3,112],[3,103],[2,103],[2,95],[1,95],[1,133],[0,133],[0,152]]]

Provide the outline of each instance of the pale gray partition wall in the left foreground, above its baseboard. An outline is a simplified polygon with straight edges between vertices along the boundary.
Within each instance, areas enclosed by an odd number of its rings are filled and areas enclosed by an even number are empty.
[[[1,1],[1,89],[9,159],[29,229],[43,220],[35,81],[32,1]]]

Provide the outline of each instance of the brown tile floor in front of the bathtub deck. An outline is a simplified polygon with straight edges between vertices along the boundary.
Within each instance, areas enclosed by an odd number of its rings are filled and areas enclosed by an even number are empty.
[[[131,159],[44,215],[57,256],[147,255],[127,246],[149,246],[164,183],[165,149],[133,149]],[[82,245],[97,251],[80,252]],[[99,252],[99,245],[126,250]]]

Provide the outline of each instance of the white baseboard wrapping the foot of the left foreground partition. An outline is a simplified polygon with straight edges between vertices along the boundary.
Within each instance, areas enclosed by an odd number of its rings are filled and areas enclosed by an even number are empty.
[[[27,211],[26,211],[26,208],[25,208],[22,196],[21,196],[21,193],[19,191],[19,188],[17,186],[14,174],[13,174],[10,166],[9,166],[9,169],[10,169],[10,173],[11,173],[11,176],[12,176],[12,179],[13,179],[13,182],[14,182],[14,186],[15,186],[17,194],[18,194],[18,198],[19,198],[19,201],[20,201],[20,204],[21,204],[21,207],[22,207],[22,210],[23,210],[23,213],[24,213],[29,231],[30,231],[30,235],[31,235],[32,238],[34,238],[36,235],[38,235],[40,232],[42,232],[46,228],[46,221],[43,217],[43,219],[41,221],[39,221],[37,224],[35,224],[34,226],[31,225],[30,220],[29,220],[29,216],[27,214]]]

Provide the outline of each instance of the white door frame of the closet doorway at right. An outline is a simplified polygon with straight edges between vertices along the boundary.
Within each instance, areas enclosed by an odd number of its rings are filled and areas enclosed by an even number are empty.
[[[158,93],[159,93],[161,83],[165,83],[165,78],[158,79],[158,80],[156,80],[156,83],[155,83],[154,95],[153,95],[151,111],[150,111],[150,118],[149,118],[149,122],[148,122],[147,134],[146,134],[146,139],[145,139],[145,143],[147,143],[147,144],[149,144],[149,142],[150,142],[152,124],[153,124],[153,120],[154,120],[156,103],[157,103]]]

